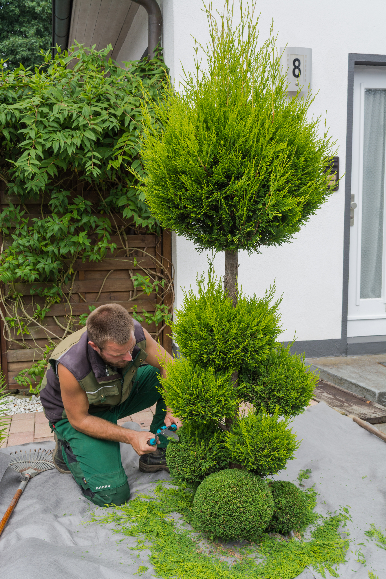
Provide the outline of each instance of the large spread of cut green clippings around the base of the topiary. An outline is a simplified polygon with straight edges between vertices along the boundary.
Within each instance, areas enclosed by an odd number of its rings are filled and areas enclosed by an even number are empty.
[[[338,577],[336,565],[345,562],[348,540],[343,540],[338,527],[346,515],[323,518],[312,513],[316,493],[307,491],[308,521],[319,518],[311,532],[311,540],[290,540],[278,535],[263,534],[258,544],[240,549],[205,541],[188,530],[199,531],[192,512],[193,494],[185,488],[165,488],[160,482],[153,496],[140,495],[121,507],[106,507],[103,516],[92,516],[92,522],[115,523],[115,533],[136,537],[136,547],[150,549],[152,573],[162,579],[293,579],[306,567],[326,577],[326,570]],[[182,526],[176,526],[168,515],[178,512]],[[300,535],[298,535],[300,537]],[[145,544],[149,541],[151,544]],[[233,558],[228,563],[224,558]],[[370,576],[369,576],[370,577]],[[375,579],[375,578],[372,578]]]

